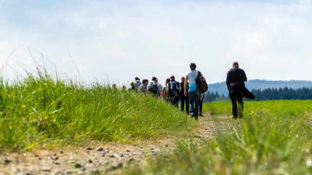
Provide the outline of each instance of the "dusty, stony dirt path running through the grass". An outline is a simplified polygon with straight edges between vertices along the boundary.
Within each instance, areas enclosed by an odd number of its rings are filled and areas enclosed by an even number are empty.
[[[218,132],[240,127],[231,117],[200,117],[195,129],[197,140],[211,139]],[[180,138],[185,139],[185,138]],[[100,144],[63,150],[34,150],[28,153],[0,153],[0,175],[90,175],[110,173],[132,162],[143,162],[163,152],[173,152],[176,138],[145,141],[140,145]]]

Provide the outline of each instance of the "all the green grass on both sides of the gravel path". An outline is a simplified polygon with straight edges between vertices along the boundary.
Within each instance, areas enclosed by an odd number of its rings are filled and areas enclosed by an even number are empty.
[[[196,137],[198,122],[166,102],[105,83],[83,85],[39,72],[0,82],[0,149],[81,146],[90,141],[133,143],[185,133],[176,151],[147,158],[124,174],[312,174],[312,100],[245,102],[232,119],[230,102],[206,103],[203,121],[213,139]],[[181,140],[181,138],[179,139]],[[119,172],[120,173],[120,172]]]

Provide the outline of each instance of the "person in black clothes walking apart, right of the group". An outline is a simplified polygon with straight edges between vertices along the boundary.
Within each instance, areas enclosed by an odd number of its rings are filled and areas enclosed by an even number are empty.
[[[246,97],[254,99],[254,94],[245,87],[245,81],[247,81],[245,71],[239,68],[237,61],[233,62],[233,68],[228,71],[226,76],[226,85],[228,87],[229,96],[232,101],[232,114],[234,119],[237,119],[237,117],[243,117],[243,98]]]

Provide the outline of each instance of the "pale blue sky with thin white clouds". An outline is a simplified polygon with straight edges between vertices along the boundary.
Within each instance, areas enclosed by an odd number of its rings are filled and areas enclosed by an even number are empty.
[[[86,82],[207,82],[234,61],[248,79],[312,80],[312,0],[0,0],[0,68]]]

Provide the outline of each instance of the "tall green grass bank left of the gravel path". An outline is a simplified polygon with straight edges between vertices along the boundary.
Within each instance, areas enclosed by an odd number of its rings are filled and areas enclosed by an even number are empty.
[[[87,140],[156,139],[195,123],[150,95],[105,84],[81,85],[47,73],[0,81],[0,149],[20,150]]]

